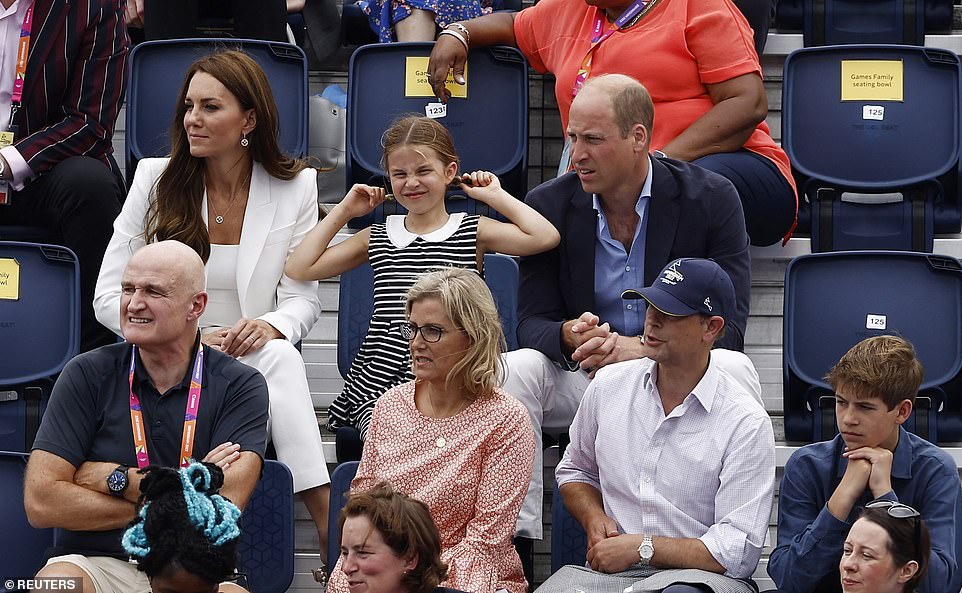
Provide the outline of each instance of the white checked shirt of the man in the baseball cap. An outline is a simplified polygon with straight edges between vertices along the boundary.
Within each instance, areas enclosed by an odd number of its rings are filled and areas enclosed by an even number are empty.
[[[698,538],[726,575],[751,576],[772,510],[771,420],[714,361],[667,416],[656,382],[648,358],[598,371],[558,484],[597,488],[622,533]]]

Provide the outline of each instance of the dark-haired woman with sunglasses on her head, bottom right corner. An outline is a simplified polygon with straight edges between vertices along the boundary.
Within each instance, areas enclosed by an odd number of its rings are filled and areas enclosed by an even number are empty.
[[[929,530],[910,506],[876,500],[849,530],[838,568],[843,593],[914,593],[929,564]]]

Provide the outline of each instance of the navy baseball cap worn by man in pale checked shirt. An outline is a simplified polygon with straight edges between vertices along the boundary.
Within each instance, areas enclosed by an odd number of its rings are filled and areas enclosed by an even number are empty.
[[[645,299],[665,315],[685,317],[695,313],[728,319],[735,309],[735,287],[721,266],[710,259],[683,257],[670,262],[654,284],[626,290],[623,299]]]

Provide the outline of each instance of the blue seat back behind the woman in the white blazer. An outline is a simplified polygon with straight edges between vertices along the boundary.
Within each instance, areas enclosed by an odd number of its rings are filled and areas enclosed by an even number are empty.
[[[130,52],[128,181],[140,159],[170,153],[169,131],[187,68],[197,58],[224,48],[243,49],[261,65],[278,106],[281,149],[292,156],[307,154],[307,57],[301,48],[249,39],[149,41]]]

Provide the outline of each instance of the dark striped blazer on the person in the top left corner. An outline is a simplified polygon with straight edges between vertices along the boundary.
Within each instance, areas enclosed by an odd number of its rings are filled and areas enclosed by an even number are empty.
[[[33,169],[72,156],[114,169],[112,137],[127,89],[122,0],[35,0],[14,146]]]

